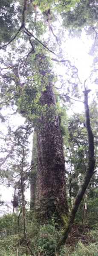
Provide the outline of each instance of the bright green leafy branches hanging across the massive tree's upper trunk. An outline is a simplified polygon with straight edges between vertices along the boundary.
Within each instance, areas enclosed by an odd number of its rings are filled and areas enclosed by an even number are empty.
[[[49,83],[54,84],[55,76],[52,71],[51,61],[46,55],[46,50],[43,50],[42,46],[36,44],[36,42],[35,47],[36,54],[31,55],[27,62],[26,84],[21,88],[17,76],[14,78],[16,86],[9,79],[7,84],[6,82],[3,84],[0,96],[2,98],[2,105],[13,106],[16,104],[18,113],[21,113],[23,117],[32,121],[35,125],[38,125],[38,118],[40,116],[48,118],[51,122],[56,113],[56,107],[51,104],[51,101],[49,104],[40,102],[42,91],[46,91]],[[13,79],[14,72],[11,77]]]

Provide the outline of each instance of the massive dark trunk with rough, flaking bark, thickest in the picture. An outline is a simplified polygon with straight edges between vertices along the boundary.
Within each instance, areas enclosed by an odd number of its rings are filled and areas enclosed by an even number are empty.
[[[40,96],[42,105],[54,106],[55,96],[49,82]],[[65,160],[58,114],[40,117],[40,131],[37,131],[37,196],[36,207],[39,208],[41,221],[49,219],[52,213],[63,221],[68,217],[66,201]]]

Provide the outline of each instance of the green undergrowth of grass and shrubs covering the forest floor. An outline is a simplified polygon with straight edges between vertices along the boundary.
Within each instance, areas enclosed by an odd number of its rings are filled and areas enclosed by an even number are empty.
[[[79,223],[74,223],[66,245],[57,253],[56,247],[63,232],[58,229],[55,216],[51,224],[38,225],[26,215],[28,254],[23,236],[23,221],[20,218],[20,230],[17,228],[18,217],[15,214],[0,217],[0,256],[97,256],[98,229],[91,230]]]

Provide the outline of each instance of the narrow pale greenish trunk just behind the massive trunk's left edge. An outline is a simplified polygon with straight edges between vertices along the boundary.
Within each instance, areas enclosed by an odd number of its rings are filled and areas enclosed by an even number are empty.
[[[33,211],[35,207],[35,186],[37,174],[37,136],[34,131],[33,134],[33,148],[32,148],[32,171],[30,174],[30,210]]]

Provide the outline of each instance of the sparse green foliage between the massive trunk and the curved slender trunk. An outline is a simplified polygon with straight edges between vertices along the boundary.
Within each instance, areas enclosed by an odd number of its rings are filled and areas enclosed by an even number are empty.
[[[68,173],[67,188],[69,201],[75,198],[79,183],[86,172],[87,162],[87,137],[86,128],[84,128],[84,116],[74,115],[69,119],[68,138],[66,147],[66,171]]]

